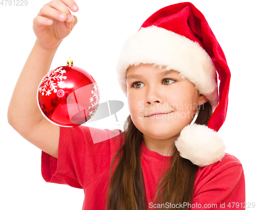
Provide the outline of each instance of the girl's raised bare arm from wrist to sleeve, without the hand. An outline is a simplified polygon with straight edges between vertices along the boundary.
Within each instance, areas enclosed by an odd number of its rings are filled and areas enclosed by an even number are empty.
[[[57,47],[51,50],[41,48],[35,42],[19,75],[8,109],[8,120],[12,127],[29,142],[55,157],[59,127],[41,115],[36,93],[41,78],[50,69],[56,50]]]

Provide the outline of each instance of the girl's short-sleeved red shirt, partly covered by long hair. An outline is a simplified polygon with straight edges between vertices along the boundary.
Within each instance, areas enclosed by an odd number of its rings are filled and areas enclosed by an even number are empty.
[[[42,152],[42,176],[47,182],[83,189],[82,209],[105,210],[110,166],[123,142],[124,135],[120,130],[60,127],[58,159]],[[157,207],[152,201],[163,175],[164,163],[172,157],[148,150],[144,142],[141,147],[147,204],[150,208]],[[199,167],[193,201],[179,205],[189,205],[190,209],[232,209],[232,202],[239,203],[233,209],[242,209],[244,205],[244,172],[238,159],[225,154],[221,162]],[[172,206],[170,203],[162,205]]]

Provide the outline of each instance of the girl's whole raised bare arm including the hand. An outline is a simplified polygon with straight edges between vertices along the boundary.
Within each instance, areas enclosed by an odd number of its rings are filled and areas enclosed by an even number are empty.
[[[70,10],[73,0],[53,0],[44,5],[33,20],[35,44],[19,75],[8,109],[10,125],[26,140],[57,158],[59,127],[47,121],[36,101],[38,85],[49,71],[55,52],[77,23]]]

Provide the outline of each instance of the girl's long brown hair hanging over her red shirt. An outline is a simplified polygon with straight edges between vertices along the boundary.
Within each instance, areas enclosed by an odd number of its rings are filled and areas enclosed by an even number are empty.
[[[207,101],[200,107],[196,124],[207,125],[212,114],[210,103]],[[146,210],[144,180],[141,168],[140,149],[143,141],[142,133],[134,125],[131,116],[127,117],[125,141],[120,147],[111,164],[110,185],[108,189],[107,210]],[[119,158],[113,175],[111,171],[115,160]],[[190,203],[193,199],[194,182],[198,166],[181,158],[174,147],[169,168],[162,177],[153,203]],[[168,208],[162,208],[167,210]],[[179,208],[179,205],[172,207]]]

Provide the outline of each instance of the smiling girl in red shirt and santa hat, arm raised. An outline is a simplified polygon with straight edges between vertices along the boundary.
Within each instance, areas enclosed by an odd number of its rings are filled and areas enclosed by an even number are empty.
[[[37,108],[38,84],[70,22],[71,29],[77,23],[68,8],[78,11],[73,0],[52,1],[35,17],[37,39],[8,112],[17,132],[43,151],[44,179],[84,189],[83,209],[244,203],[242,165],[224,153],[216,133],[226,116],[230,72],[202,13],[190,3],[165,7],[127,39],[117,63],[130,109],[121,132],[58,127]]]

